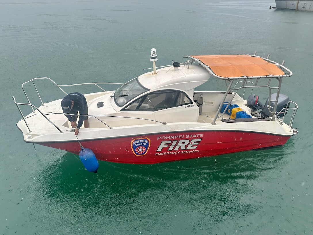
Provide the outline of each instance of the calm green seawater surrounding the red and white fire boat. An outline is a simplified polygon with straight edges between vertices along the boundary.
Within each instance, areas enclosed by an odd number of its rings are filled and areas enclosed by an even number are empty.
[[[269,6],[275,1],[1,0],[0,234],[313,234],[313,12]],[[156,66],[254,51],[285,60],[293,76],[281,93],[299,106],[299,135],[278,149],[101,161],[97,174],[77,155],[23,142],[12,98],[27,102],[23,82],[124,83],[152,67],[151,48]],[[45,102],[63,97],[50,83],[38,89]]]

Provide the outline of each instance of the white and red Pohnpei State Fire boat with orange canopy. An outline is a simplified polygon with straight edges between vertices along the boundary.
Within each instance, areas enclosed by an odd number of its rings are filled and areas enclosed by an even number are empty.
[[[183,63],[172,61],[156,69],[151,58],[153,71],[115,91],[84,94],[72,88],[85,95],[89,108],[89,128],[80,128],[77,137],[98,160],[152,164],[267,149],[284,145],[298,133],[292,127],[298,106],[280,94],[283,79],[292,75],[284,62],[255,54],[188,55]],[[28,82],[38,79],[52,81]],[[194,90],[210,81],[221,81],[225,89]],[[22,85],[27,99],[23,86],[28,82]],[[62,91],[69,86],[54,84]],[[62,98],[35,107],[29,99],[18,103],[13,97],[22,115],[17,127],[27,143],[79,154]],[[20,108],[24,105],[33,109],[27,116]]]

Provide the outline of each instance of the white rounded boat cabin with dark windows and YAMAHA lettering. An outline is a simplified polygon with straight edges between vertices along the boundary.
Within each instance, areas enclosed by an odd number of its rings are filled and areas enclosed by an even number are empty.
[[[193,100],[193,88],[208,81],[209,77],[208,72],[198,65],[190,66],[188,71],[187,67],[180,70],[167,67],[155,75],[151,72],[143,74],[115,92],[88,102],[90,114],[97,116],[89,118],[90,128],[156,121],[197,122],[199,107]]]

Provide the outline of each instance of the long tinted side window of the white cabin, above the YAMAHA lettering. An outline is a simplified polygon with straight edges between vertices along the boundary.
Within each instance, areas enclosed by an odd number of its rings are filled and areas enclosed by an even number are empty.
[[[138,98],[122,111],[157,111],[187,104],[192,104],[192,100],[184,92],[162,90]]]

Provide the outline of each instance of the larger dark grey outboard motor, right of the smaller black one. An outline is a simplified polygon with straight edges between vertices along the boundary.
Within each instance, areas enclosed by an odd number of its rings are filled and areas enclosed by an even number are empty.
[[[276,100],[276,95],[277,93],[274,93],[271,95],[271,100]],[[277,117],[282,117],[284,116],[285,113],[287,113],[287,109],[284,109],[282,112],[280,112],[280,110],[282,110],[283,108],[287,107],[288,102],[290,101],[289,97],[284,95],[284,94],[280,94],[278,97],[278,102],[277,102],[277,108],[276,108],[276,115]],[[275,102],[271,102],[270,103],[270,110],[273,111],[275,106]],[[278,113],[280,112],[280,113]],[[270,116],[270,112],[269,112],[269,98],[267,98],[265,105],[263,107],[263,116],[264,117],[269,117]]]

